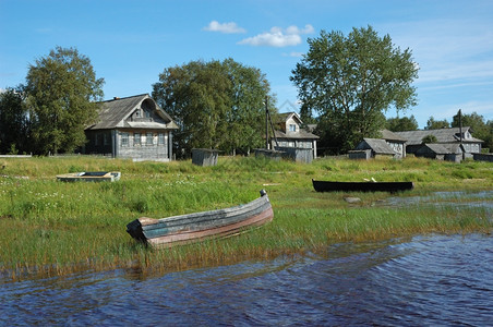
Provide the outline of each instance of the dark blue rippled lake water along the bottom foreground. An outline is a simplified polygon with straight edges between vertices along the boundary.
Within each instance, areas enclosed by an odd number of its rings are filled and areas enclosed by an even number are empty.
[[[337,244],[146,278],[0,280],[0,303],[5,326],[491,326],[493,235]]]

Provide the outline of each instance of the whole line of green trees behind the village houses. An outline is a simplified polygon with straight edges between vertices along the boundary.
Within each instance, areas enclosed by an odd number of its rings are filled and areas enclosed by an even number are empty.
[[[410,49],[401,50],[371,27],[348,35],[322,31],[309,38],[309,51],[290,77],[298,88],[300,116],[316,123],[318,148],[326,154],[352,149],[380,131],[417,130],[410,118],[385,119],[417,105],[412,82],[418,64]],[[26,82],[0,94],[0,153],[72,153],[86,142],[85,126],[97,120],[104,78],[75,48],[57,47],[29,64]],[[248,154],[264,144],[265,104],[276,112],[275,95],[265,74],[232,59],[191,61],[164,69],[152,85],[152,97],[178,123],[175,153],[194,147]],[[428,121],[426,129],[457,126]],[[473,112],[462,117],[474,136],[493,148],[493,121]]]

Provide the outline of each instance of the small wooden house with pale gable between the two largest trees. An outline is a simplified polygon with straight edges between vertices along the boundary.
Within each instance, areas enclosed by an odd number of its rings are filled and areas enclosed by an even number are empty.
[[[294,160],[311,162],[316,158],[316,141],[320,138],[315,134],[301,128],[302,121],[298,113],[280,113],[279,121],[274,131],[275,138],[272,142],[272,148],[285,152],[294,156]]]

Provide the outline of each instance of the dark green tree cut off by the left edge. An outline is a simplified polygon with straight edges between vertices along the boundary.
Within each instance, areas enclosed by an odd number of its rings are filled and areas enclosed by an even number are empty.
[[[21,87],[0,94],[0,154],[29,152],[27,109]]]

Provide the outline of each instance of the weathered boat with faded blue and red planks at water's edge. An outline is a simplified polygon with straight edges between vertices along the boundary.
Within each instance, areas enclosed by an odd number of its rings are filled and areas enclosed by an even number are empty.
[[[273,218],[267,193],[262,190],[261,197],[236,207],[161,219],[142,217],[127,225],[127,232],[154,247],[169,247],[206,238],[238,234]]]

